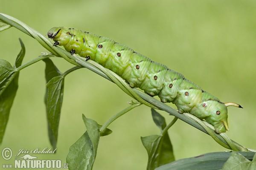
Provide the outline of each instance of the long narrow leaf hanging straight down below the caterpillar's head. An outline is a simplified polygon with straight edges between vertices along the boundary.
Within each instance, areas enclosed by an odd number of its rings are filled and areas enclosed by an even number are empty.
[[[61,106],[64,93],[64,78],[61,72],[53,64],[52,60],[46,58],[45,79],[47,82],[44,103],[47,111],[48,136],[53,148],[56,148],[58,140],[58,126],[61,116]]]

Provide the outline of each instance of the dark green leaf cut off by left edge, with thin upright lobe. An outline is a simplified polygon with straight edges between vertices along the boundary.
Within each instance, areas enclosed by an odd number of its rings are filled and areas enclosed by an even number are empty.
[[[25,56],[25,46],[21,40],[20,45],[21,50],[17,55],[15,68],[21,65]],[[3,141],[10,110],[18,89],[19,73],[15,72],[15,68],[9,62],[0,59],[0,143]]]

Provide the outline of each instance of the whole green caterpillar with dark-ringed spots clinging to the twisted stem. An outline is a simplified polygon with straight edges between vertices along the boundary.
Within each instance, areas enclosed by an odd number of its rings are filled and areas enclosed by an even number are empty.
[[[227,107],[242,108],[234,102],[221,102],[182,74],[151,61],[131,48],[109,38],[74,28],[53,27],[47,36],[53,45],[64,46],[71,54],[92,59],[118,74],[131,86],[161,102],[172,102],[179,113],[190,113],[213,125],[216,133],[228,130]]]

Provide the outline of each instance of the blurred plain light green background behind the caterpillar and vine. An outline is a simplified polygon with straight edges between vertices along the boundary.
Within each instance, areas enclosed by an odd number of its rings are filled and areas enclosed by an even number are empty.
[[[255,9],[255,0],[0,0],[0,12],[44,35],[49,28],[66,26],[109,37],[184,74],[221,101],[241,104],[244,109],[229,108],[227,134],[254,149]],[[26,46],[24,62],[46,51],[31,37],[10,28],[0,33],[0,58],[14,63],[20,51],[19,37]],[[53,60],[63,72],[71,67],[64,59]],[[43,102],[44,67],[44,62],[38,62],[20,73],[1,150],[50,147]],[[85,131],[82,113],[103,124],[129,101],[128,95],[99,75],[87,69],[73,72],[65,79],[58,152],[33,156],[65,162],[70,145]],[[171,121],[172,116],[160,113]],[[136,108],[109,128],[113,133],[101,138],[94,169],[145,169],[147,153],[140,136],[159,134],[150,109]],[[176,159],[225,150],[182,121],[177,121],[169,135]]]

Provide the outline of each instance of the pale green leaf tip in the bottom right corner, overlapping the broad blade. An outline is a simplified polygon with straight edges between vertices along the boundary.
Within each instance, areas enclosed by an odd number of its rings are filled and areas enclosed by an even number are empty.
[[[238,152],[232,152],[222,170],[256,170],[256,161],[249,161]]]

